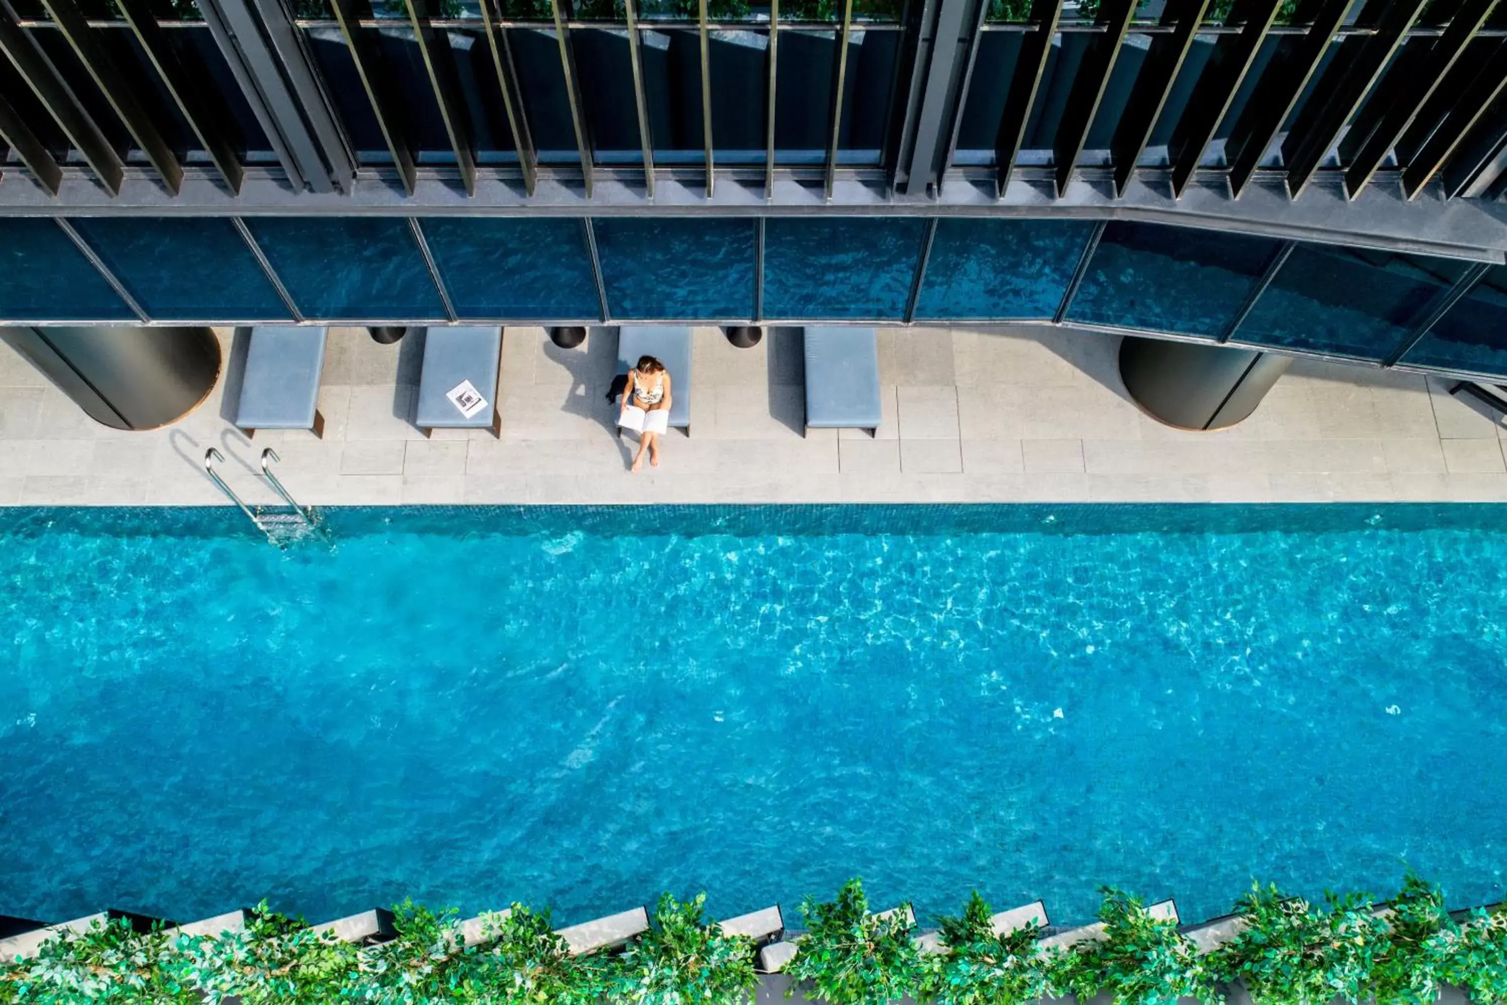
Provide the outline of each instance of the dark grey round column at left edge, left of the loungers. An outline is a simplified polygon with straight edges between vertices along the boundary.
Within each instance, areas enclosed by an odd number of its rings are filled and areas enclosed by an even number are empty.
[[[194,410],[220,378],[220,341],[209,328],[6,328],[89,417],[116,429],[154,429]]]

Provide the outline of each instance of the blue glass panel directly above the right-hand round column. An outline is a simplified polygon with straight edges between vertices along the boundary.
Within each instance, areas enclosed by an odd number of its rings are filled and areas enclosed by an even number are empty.
[[[1243,234],[1111,221],[1067,316],[1218,338],[1278,247]]]

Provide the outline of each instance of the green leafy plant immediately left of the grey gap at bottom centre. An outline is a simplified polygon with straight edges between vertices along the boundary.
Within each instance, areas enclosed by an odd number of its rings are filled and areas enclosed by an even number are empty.
[[[678,901],[665,894],[654,927],[628,946],[610,997],[633,1005],[740,1002],[758,985],[754,942],[728,936],[705,916],[707,895]]]

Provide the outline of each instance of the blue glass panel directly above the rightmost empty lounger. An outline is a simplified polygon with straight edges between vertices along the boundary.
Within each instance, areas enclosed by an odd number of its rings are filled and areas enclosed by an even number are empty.
[[[764,315],[903,318],[924,232],[924,220],[906,217],[770,217]]]

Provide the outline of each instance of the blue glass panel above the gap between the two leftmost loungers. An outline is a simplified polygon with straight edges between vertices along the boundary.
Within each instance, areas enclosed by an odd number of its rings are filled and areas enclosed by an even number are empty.
[[[247,217],[246,226],[306,318],[445,316],[407,220]]]

